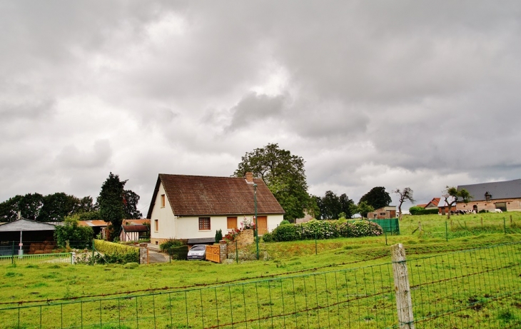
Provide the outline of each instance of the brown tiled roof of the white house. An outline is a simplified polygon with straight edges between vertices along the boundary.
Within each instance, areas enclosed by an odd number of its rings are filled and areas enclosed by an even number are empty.
[[[261,178],[257,184],[257,213],[285,213]],[[168,175],[160,173],[147,218],[163,183],[166,197],[176,216],[248,215],[255,213],[253,184],[245,178]]]

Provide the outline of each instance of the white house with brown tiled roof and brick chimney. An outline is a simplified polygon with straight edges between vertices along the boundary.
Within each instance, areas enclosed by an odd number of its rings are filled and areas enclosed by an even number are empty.
[[[253,221],[257,201],[258,233],[272,231],[283,221],[284,210],[261,178],[168,175],[160,173],[153,191],[148,219],[151,243],[168,238],[211,241]]]

